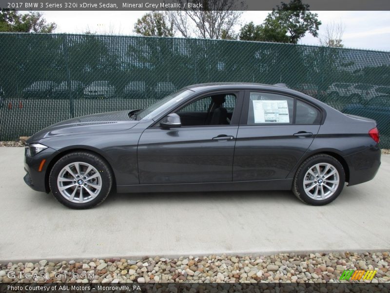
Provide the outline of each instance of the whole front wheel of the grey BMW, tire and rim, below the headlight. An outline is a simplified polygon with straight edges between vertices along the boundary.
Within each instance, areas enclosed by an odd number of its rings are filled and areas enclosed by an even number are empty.
[[[89,209],[101,204],[112,187],[107,163],[89,152],[72,152],[60,158],[50,172],[54,197],[72,209]]]

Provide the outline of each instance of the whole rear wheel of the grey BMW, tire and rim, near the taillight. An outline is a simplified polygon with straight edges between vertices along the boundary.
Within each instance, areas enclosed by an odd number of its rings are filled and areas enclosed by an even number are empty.
[[[322,206],[339,196],[345,183],[343,166],[326,154],[306,159],[295,173],[292,191],[301,201]]]

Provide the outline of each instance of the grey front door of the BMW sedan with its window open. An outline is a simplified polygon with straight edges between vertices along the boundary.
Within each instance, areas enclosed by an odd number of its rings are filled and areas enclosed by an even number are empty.
[[[202,95],[170,112],[181,127],[147,128],[138,143],[140,184],[231,182],[241,95]]]

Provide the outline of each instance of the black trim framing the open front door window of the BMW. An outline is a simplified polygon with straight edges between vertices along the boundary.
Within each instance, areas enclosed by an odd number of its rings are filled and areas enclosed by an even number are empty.
[[[159,126],[159,123],[162,119],[164,119],[165,116],[168,114],[175,113],[179,108],[185,107],[186,105],[191,104],[192,102],[195,102],[195,100],[202,99],[202,98],[207,98],[209,96],[215,95],[215,94],[234,94],[236,96],[236,103],[234,106],[234,111],[232,114],[232,124],[227,124],[227,125],[194,125],[194,126],[180,126],[179,128],[190,128],[190,127],[217,127],[217,126],[239,126],[240,124],[240,118],[242,115],[242,105],[244,102],[244,90],[242,89],[237,89],[237,88],[232,88],[232,89],[217,89],[217,90],[212,90],[212,91],[207,91],[207,92],[202,92],[199,93],[198,95],[194,95],[187,101],[182,102],[180,105],[177,105],[175,108],[169,110],[165,114],[163,114],[159,119],[156,120],[152,125],[150,125],[148,128],[162,128]]]

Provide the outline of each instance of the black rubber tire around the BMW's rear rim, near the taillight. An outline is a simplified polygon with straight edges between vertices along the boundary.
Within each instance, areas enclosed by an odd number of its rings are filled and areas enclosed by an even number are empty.
[[[316,164],[330,164],[333,166],[338,172],[338,180],[339,184],[334,191],[334,193],[326,199],[316,200],[306,194],[304,190],[304,179],[308,170],[314,167]],[[294,180],[292,183],[292,192],[295,196],[300,199],[302,202],[312,205],[312,206],[323,206],[331,203],[335,200],[341,193],[345,184],[345,171],[341,163],[336,160],[334,157],[327,154],[318,154],[306,159],[301,166],[299,166],[298,170],[295,173]],[[327,189],[329,190],[329,189]]]

